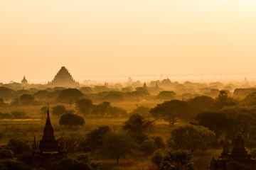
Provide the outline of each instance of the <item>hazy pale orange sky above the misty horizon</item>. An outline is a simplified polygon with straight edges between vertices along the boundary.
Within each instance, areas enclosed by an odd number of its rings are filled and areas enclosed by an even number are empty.
[[[0,0],[0,81],[256,72],[255,0]]]

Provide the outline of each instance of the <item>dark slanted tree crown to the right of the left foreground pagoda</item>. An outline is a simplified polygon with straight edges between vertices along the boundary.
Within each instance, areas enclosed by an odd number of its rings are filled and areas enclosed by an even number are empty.
[[[82,147],[90,147],[91,150],[100,149],[103,145],[103,137],[108,132],[111,132],[111,129],[107,125],[90,131],[87,133],[85,141],[81,143]]]

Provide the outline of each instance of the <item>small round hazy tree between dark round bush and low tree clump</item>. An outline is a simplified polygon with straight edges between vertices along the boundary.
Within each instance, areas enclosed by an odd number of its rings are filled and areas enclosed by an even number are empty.
[[[90,99],[82,98],[75,102],[75,108],[82,115],[88,115],[92,111],[93,103]]]

